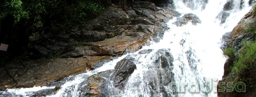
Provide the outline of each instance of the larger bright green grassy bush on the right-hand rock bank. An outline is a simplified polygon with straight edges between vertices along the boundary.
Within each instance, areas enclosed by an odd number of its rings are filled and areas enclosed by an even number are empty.
[[[243,81],[253,87],[256,76],[256,42],[246,41],[234,61],[231,73],[237,73],[236,81]],[[238,80],[240,79],[240,80]]]

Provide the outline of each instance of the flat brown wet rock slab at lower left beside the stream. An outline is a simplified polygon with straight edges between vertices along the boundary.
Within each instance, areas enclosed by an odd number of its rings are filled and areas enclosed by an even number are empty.
[[[67,76],[91,70],[97,62],[110,58],[111,56],[85,56],[30,60],[22,64],[10,63],[6,65],[6,69],[11,77],[4,68],[0,68],[0,88],[48,86]]]

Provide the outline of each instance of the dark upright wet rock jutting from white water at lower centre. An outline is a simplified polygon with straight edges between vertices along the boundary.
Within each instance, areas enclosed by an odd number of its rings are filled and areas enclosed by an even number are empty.
[[[117,70],[117,73],[114,79],[115,87],[121,90],[124,89],[124,86],[128,81],[128,77],[136,69],[136,64],[134,62],[135,62],[135,59],[132,58],[131,55],[117,62],[117,65],[115,65],[115,69]]]

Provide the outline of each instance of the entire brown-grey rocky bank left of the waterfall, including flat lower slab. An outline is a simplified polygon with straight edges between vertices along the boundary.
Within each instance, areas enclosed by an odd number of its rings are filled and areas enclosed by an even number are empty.
[[[126,11],[115,5],[106,8],[103,15],[90,21],[84,29],[73,29],[53,38],[35,33],[30,37],[31,54],[57,58],[5,64],[0,68],[0,88],[49,86],[67,76],[96,69],[117,55],[138,51],[150,39],[158,42],[156,36],[161,38],[168,29],[166,22],[181,15],[150,2],[136,1],[130,5]],[[115,67],[118,73],[115,80],[116,86],[122,89],[120,68]],[[101,78],[90,78],[94,79]]]

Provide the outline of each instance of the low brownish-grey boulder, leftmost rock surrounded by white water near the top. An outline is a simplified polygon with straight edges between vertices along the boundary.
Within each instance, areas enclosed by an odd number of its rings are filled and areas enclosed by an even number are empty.
[[[201,20],[195,14],[185,14],[183,17],[177,18],[177,21],[174,22],[177,26],[187,25],[188,22],[191,22],[193,25],[201,24]]]

